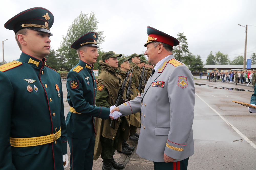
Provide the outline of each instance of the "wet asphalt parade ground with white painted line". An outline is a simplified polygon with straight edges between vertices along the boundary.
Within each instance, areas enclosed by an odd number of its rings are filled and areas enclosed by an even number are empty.
[[[189,158],[188,169],[256,169],[256,114],[251,114],[247,107],[232,102],[236,100],[250,103],[253,92],[249,91],[254,89],[250,86],[207,80],[194,82],[197,83],[193,123],[195,154]],[[62,83],[66,100],[66,82]],[[66,117],[69,111],[67,102],[64,102],[64,107]],[[138,133],[139,130],[140,128]],[[128,143],[137,146],[136,141],[129,140]],[[136,150],[130,156],[116,153],[115,160],[125,164],[125,169],[154,169],[153,162],[140,158]],[[94,161],[93,169],[102,169],[101,161],[101,158]]]

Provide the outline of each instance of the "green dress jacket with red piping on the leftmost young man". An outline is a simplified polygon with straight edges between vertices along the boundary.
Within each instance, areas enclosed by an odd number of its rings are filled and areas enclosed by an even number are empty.
[[[45,65],[45,58],[41,61],[22,52],[20,59],[12,63],[19,64],[18,61],[22,65],[0,71],[0,169],[63,169],[67,131],[60,74]],[[59,131],[60,127],[61,137],[56,144],[10,145],[10,137],[46,136]]]

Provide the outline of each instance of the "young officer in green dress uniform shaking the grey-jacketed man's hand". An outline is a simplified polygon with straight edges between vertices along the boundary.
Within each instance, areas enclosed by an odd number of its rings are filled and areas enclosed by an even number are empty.
[[[97,82],[93,73],[96,63],[98,34],[88,32],[78,38],[71,48],[77,50],[78,64],[67,76],[68,104],[66,118],[70,147],[70,169],[92,169],[95,143],[94,117],[108,119],[110,109],[95,106]]]

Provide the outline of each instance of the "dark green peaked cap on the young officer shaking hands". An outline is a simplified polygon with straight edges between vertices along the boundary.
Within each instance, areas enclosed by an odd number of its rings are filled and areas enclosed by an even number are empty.
[[[93,46],[99,48],[96,43],[97,40],[98,34],[96,32],[88,32],[86,34],[83,34],[75,42],[73,42],[71,48],[78,49],[82,46]]]

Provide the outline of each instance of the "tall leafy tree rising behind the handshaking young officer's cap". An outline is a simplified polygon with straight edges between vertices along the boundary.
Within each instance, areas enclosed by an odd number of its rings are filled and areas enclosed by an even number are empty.
[[[68,70],[73,68],[79,61],[76,49],[70,48],[71,44],[76,41],[80,36],[87,32],[97,32],[97,44],[100,45],[105,41],[103,31],[98,30],[99,21],[94,12],[89,14],[80,13],[79,16],[68,27],[66,36],[62,36],[63,40],[58,48],[58,56],[66,58],[65,66]]]

